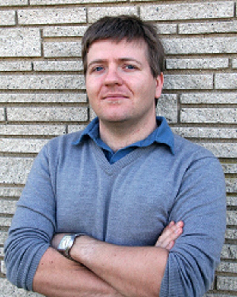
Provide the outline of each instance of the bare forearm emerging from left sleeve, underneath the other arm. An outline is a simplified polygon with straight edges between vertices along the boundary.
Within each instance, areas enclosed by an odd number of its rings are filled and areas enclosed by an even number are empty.
[[[33,290],[48,297],[122,296],[92,271],[68,260],[53,248],[47,249],[41,258]]]

